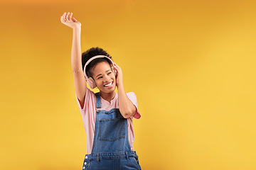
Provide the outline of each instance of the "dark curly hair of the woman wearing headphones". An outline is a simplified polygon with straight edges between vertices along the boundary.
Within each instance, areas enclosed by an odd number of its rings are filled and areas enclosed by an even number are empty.
[[[90,58],[96,56],[96,55],[105,55],[107,57],[110,57],[112,60],[112,57],[102,48],[100,47],[91,47],[89,50],[86,50],[85,52],[82,52],[82,71],[84,71],[85,63],[90,60]],[[87,77],[92,77],[92,69],[95,68],[96,64],[100,62],[107,62],[110,64],[111,67],[111,62],[107,60],[106,58],[97,58],[95,60],[92,60],[86,68],[85,68],[85,73],[87,74]]]

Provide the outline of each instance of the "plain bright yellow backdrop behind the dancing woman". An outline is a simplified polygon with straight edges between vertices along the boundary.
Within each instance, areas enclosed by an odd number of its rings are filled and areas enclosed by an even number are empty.
[[[1,1],[0,169],[82,169],[70,64],[102,47],[137,95],[142,169],[256,169],[255,1]]]

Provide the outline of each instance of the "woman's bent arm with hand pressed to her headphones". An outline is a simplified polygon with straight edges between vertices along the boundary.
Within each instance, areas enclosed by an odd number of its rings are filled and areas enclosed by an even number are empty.
[[[124,91],[122,69],[114,62],[114,69],[117,70],[117,90],[118,90],[118,102],[119,110],[124,118],[133,116],[136,112],[136,106],[129,100],[127,94]]]

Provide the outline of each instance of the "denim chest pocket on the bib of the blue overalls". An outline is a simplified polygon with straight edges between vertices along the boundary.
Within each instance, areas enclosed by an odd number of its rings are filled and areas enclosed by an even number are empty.
[[[99,140],[115,141],[125,137],[124,118],[100,119]]]

